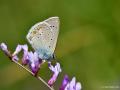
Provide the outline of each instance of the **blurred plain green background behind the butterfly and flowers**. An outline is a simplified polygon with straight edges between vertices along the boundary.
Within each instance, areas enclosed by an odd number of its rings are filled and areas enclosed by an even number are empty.
[[[66,73],[76,76],[83,90],[119,90],[120,0],[0,0],[0,42],[14,51],[27,43],[32,25],[51,16],[61,21],[55,52],[63,72],[55,89]],[[50,78],[47,65],[39,75]],[[0,90],[49,89],[0,52]]]

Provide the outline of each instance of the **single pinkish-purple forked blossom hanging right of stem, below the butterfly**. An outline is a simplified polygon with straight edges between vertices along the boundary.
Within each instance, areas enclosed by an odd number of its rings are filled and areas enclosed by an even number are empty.
[[[48,84],[49,84],[50,86],[52,86],[52,85],[54,84],[54,82],[56,81],[59,73],[60,73],[62,70],[61,70],[61,67],[60,67],[60,64],[59,64],[59,63],[57,63],[57,64],[55,65],[55,67],[53,67],[53,66],[51,65],[51,63],[50,63],[50,64],[49,64],[49,69],[53,72],[53,75],[52,75],[52,77],[50,78],[50,80],[48,81]]]

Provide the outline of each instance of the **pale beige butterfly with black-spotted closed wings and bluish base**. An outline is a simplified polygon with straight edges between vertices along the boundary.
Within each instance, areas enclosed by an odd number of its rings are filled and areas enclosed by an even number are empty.
[[[54,59],[54,50],[59,34],[59,17],[50,17],[38,22],[29,30],[26,38],[42,60]]]

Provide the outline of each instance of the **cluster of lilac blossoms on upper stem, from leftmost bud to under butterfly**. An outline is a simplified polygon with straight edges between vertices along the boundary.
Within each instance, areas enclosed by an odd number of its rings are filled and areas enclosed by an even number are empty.
[[[0,48],[2,51],[5,52],[5,54],[10,57],[10,59],[18,61],[19,58],[17,57],[17,54],[23,50],[23,58],[22,58],[22,64],[27,65],[29,64],[29,67],[31,71],[37,75],[37,72],[40,68],[40,64],[42,63],[42,60],[38,57],[38,54],[36,52],[28,52],[28,46],[27,45],[18,45],[14,51],[14,53],[11,55],[10,52],[7,49],[7,45],[4,43],[1,43]]]

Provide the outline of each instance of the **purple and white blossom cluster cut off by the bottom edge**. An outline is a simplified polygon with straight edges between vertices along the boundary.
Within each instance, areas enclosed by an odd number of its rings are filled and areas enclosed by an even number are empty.
[[[65,75],[60,90],[81,90],[81,88],[81,83],[76,82],[75,77],[73,77],[72,80],[69,81],[68,76]]]

